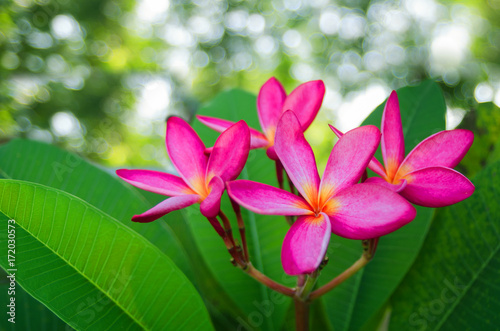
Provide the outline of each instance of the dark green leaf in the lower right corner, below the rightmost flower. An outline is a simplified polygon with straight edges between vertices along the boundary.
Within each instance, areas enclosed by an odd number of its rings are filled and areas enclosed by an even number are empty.
[[[500,163],[474,194],[436,213],[415,264],[391,299],[391,330],[497,330]]]

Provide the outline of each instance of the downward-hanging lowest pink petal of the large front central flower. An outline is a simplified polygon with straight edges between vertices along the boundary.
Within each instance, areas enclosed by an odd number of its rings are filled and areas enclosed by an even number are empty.
[[[288,230],[281,248],[281,264],[289,275],[316,270],[326,253],[331,236],[328,216],[300,216]]]

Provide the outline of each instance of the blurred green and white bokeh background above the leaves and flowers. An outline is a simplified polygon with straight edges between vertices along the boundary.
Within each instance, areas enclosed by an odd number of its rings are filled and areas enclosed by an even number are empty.
[[[257,93],[271,76],[288,92],[325,82],[313,145],[332,140],[324,121],[351,129],[392,89],[430,78],[447,128],[465,116],[492,150],[500,0],[0,1],[0,141],[164,166],[168,116],[189,119],[227,88]]]

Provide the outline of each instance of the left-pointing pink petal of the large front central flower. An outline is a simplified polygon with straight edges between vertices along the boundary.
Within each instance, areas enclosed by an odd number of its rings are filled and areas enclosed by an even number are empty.
[[[238,204],[257,214],[295,216],[312,213],[301,197],[250,180],[228,182],[227,193]]]

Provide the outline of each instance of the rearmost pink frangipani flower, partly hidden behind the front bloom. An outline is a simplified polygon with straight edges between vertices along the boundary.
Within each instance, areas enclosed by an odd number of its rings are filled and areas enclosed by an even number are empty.
[[[269,158],[277,160],[274,152],[274,134],[281,115],[286,110],[293,110],[305,131],[318,114],[325,95],[325,84],[321,80],[299,85],[288,96],[281,83],[274,77],[262,85],[257,96],[257,112],[262,132],[250,129],[250,148],[265,148]],[[231,121],[196,116],[200,122],[211,129],[222,132],[234,123]]]

